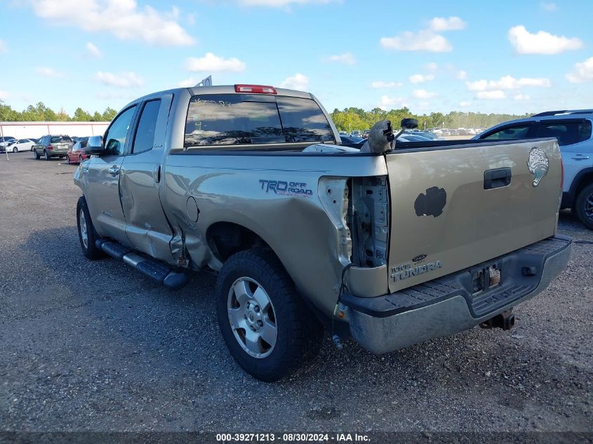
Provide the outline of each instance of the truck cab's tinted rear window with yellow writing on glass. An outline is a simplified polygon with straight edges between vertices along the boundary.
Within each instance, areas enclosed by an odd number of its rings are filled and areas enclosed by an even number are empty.
[[[272,95],[194,95],[185,147],[333,140],[314,100]]]

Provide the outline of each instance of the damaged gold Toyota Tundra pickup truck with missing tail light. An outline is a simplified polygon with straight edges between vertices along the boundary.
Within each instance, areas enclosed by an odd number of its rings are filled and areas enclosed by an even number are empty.
[[[313,95],[234,85],[134,100],[88,149],[84,255],[171,289],[217,271],[222,337],[265,381],[315,356],[324,327],[377,354],[510,328],[571,253],[554,139],[398,142],[384,121],[345,147]]]

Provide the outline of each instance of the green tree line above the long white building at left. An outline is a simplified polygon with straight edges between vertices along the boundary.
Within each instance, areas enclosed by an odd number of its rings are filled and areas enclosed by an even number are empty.
[[[26,109],[19,112],[0,100],[0,122],[109,122],[113,120],[116,114],[116,110],[109,107],[102,113],[95,111],[93,114],[79,107],[76,108],[72,116],[69,116],[64,108],[60,108],[60,111],[55,112],[50,107],[46,107],[44,102],[38,102],[37,105],[29,105]]]

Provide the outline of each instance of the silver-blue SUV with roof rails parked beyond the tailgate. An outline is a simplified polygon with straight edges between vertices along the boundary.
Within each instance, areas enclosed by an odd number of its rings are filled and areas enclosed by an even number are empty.
[[[493,126],[474,140],[555,137],[564,161],[561,208],[593,229],[593,109],[547,111]]]

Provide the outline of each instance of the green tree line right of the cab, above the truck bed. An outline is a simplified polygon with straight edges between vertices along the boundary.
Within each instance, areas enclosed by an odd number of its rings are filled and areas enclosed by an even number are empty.
[[[336,128],[347,133],[352,130],[368,130],[378,121],[387,119],[394,128],[399,128],[401,119],[410,117],[418,120],[418,128],[490,128],[498,123],[513,119],[524,119],[531,114],[482,114],[480,112],[452,111],[448,114],[432,112],[430,114],[413,114],[407,107],[390,109],[373,108],[365,111],[361,108],[338,108],[331,113]]]

